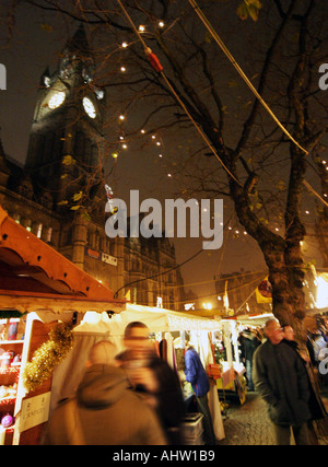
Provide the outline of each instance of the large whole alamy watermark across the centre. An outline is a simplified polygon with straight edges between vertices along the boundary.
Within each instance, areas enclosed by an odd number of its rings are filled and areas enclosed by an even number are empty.
[[[110,212],[110,218],[105,224],[106,235],[110,238],[120,237],[187,237],[187,224],[190,237],[210,240],[202,242],[203,249],[219,249],[223,243],[223,200],[214,199],[213,209],[211,200],[202,199],[165,199],[164,211],[157,199],[148,198],[140,205],[139,190],[130,191],[130,212],[128,217],[127,205],[119,198],[113,198],[113,191],[105,187],[107,202],[105,212]],[[187,210],[189,222],[187,222]],[[147,215],[140,215],[147,213]],[[128,221],[129,219],[129,221]],[[162,227],[163,219],[165,229]],[[176,223],[175,223],[176,219]]]

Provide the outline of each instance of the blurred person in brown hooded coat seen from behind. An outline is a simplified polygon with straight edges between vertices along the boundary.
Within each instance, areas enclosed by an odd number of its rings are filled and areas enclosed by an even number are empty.
[[[44,444],[164,445],[155,412],[129,388],[122,369],[115,366],[116,348],[96,343],[74,397],[52,412]]]

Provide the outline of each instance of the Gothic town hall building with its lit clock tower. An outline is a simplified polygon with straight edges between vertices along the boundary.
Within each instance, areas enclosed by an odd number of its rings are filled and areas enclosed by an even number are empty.
[[[0,141],[0,205],[118,297],[180,310],[183,280],[168,238],[106,236],[107,96],[94,85],[94,66],[80,26],[56,71],[40,78],[24,166]]]

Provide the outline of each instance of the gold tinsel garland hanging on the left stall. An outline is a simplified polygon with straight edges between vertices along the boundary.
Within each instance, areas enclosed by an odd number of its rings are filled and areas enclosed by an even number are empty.
[[[30,393],[35,390],[54,373],[55,367],[66,359],[74,345],[71,324],[59,323],[49,332],[49,340],[43,343],[27,362],[23,372],[23,385]]]

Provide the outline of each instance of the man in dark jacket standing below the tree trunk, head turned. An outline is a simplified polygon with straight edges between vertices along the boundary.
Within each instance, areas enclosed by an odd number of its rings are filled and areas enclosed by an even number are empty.
[[[253,380],[268,404],[277,444],[290,444],[291,429],[296,444],[309,444],[309,388],[304,365],[282,342],[283,330],[276,319],[266,323],[265,332],[268,340],[255,352]]]

